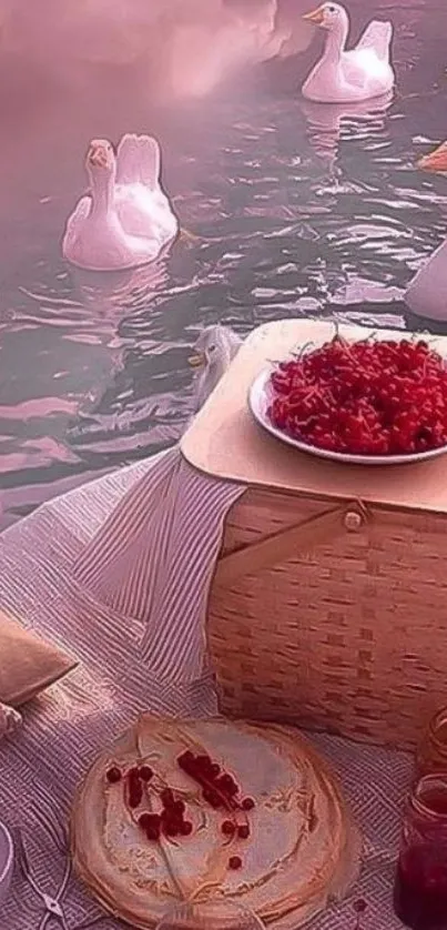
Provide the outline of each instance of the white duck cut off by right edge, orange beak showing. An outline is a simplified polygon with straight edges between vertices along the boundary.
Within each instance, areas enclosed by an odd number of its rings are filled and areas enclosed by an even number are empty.
[[[424,155],[417,166],[447,176],[447,142],[443,142],[430,154]],[[447,321],[447,239],[416,272],[404,300],[409,310],[418,316]]]

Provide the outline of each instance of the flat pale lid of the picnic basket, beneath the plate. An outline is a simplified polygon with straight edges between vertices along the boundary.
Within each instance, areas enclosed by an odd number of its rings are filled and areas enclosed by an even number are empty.
[[[396,331],[343,326],[347,338],[370,333],[396,337]],[[287,357],[297,345],[331,340],[334,324],[280,320],[254,330],[228,371],[181,441],[186,461],[217,478],[294,492],[326,499],[365,502],[413,511],[447,512],[447,454],[408,465],[346,465],[319,459],[264,432],[248,408],[248,391],[272,360]],[[447,355],[447,337],[433,340]]]

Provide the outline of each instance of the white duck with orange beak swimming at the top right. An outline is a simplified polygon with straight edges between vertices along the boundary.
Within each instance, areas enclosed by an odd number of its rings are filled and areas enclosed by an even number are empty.
[[[323,55],[303,84],[304,97],[318,103],[349,103],[392,90],[390,22],[373,20],[355,49],[346,51],[349,17],[341,3],[323,3],[304,19],[327,30]]]

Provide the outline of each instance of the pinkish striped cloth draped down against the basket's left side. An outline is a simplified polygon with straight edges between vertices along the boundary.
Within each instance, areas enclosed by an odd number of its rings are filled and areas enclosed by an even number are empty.
[[[141,655],[160,680],[191,684],[203,674],[209,589],[226,513],[244,491],[199,474],[175,446],[74,564],[96,599],[144,624]]]

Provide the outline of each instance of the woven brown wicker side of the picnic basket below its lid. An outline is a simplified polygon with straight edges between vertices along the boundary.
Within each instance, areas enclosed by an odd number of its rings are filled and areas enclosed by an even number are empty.
[[[447,702],[446,530],[443,516],[250,489],[209,605],[222,710],[415,746]]]

